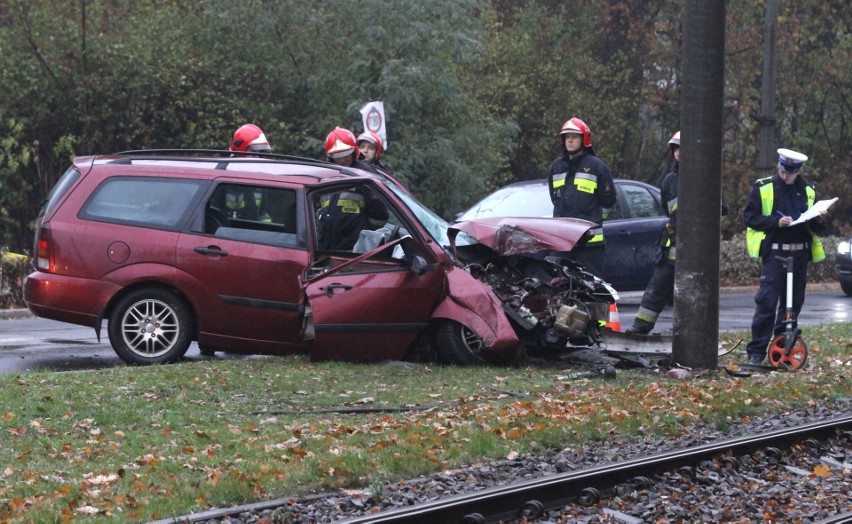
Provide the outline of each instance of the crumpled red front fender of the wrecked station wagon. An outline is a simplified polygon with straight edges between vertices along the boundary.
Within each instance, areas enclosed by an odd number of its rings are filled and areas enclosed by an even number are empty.
[[[490,351],[503,352],[519,343],[500,299],[491,288],[458,267],[447,272],[446,297],[435,308],[432,319],[465,325],[482,338]]]

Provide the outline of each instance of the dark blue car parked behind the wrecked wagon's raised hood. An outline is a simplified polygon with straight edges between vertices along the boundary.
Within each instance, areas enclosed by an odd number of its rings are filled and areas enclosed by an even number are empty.
[[[635,180],[616,179],[616,207],[604,220],[606,256],[601,278],[619,291],[645,289],[654,274],[657,241],[668,218],[660,190]],[[550,217],[553,204],[547,180],[527,180],[501,187],[456,220],[486,217]]]

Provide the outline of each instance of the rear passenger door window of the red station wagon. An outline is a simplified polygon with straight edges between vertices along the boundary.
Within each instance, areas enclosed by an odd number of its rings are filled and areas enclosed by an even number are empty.
[[[248,184],[220,184],[204,206],[204,233],[219,238],[300,247],[296,191]]]

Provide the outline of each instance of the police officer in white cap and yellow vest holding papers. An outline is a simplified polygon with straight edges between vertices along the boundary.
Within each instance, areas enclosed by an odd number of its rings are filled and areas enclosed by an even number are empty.
[[[826,212],[807,222],[792,224],[816,201],[813,184],[799,176],[807,159],[802,153],[779,149],[778,173],[754,184],[743,210],[748,254],[763,261],[760,288],[754,297],[757,307],[751,323],[751,342],[746,346],[749,364],[760,364],[766,357],[773,331],[776,336],[784,332],[787,268],[775,257],[793,259],[794,320],[805,301],[808,261],[825,259],[816,233],[828,230]]]

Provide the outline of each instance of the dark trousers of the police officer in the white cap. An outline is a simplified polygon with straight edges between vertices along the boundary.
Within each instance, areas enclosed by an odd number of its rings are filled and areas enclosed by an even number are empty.
[[[756,308],[751,321],[751,342],[746,346],[750,357],[763,358],[770,339],[784,333],[787,318],[787,268],[775,256],[793,257],[793,320],[798,318],[805,303],[810,253],[804,251],[772,251],[763,258],[760,288],[754,297]],[[795,325],[794,325],[795,327]]]

